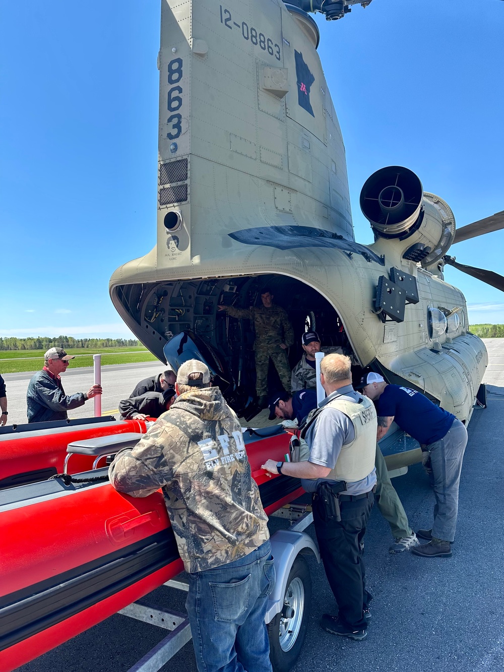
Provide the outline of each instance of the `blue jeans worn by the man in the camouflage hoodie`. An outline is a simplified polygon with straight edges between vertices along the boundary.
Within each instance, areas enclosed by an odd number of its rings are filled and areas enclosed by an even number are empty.
[[[240,560],[189,575],[185,607],[199,672],[271,672],[264,618],[274,583],[269,541]]]

